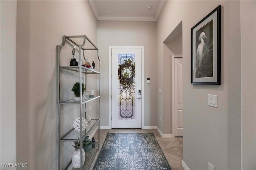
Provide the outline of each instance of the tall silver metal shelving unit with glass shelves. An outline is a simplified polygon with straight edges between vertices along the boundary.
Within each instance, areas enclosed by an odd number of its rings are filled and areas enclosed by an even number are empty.
[[[76,43],[75,39],[83,39],[83,43],[82,44],[78,44]],[[88,43],[87,43],[88,42]],[[89,48],[86,48],[86,43],[90,44]],[[82,63],[82,57],[85,60],[85,56],[84,56],[84,52],[86,50],[96,50],[97,51],[97,58],[98,58],[98,71],[90,69],[90,68],[86,68],[84,66],[82,66],[82,64],[80,63],[79,66],[61,66],[60,65],[60,51],[62,49],[62,47],[64,47],[65,44],[68,44],[71,48],[72,46],[76,45],[78,47],[78,49],[76,49],[76,51],[78,50],[79,52],[79,61]],[[86,152],[86,160],[84,162],[84,165],[82,165],[82,161],[81,161],[81,167],[79,168],[80,170],[85,170],[89,168],[90,162],[92,161],[92,158],[94,157],[95,153],[97,150],[100,149],[100,145],[99,145],[99,141],[100,141],[100,58],[99,58],[99,53],[98,53],[98,48],[92,43],[92,41],[90,41],[90,39],[88,39],[88,37],[86,37],[86,35],[78,35],[78,36],[63,36],[62,39],[62,45],[57,45],[57,100],[58,100],[58,169],[64,169],[64,170],[71,170],[71,169],[76,169],[73,168],[72,166],[72,160],[70,158],[70,161],[66,164],[66,167],[61,168],[61,144],[65,143],[65,142],[74,142],[74,141],[80,141],[80,144],[83,143],[85,137],[92,131],[92,129],[94,129],[97,125],[98,125],[98,142],[95,143],[95,148],[92,148],[92,150],[90,150],[89,152]],[[60,99],[60,86],[62,85],[60,83],[60,74],[64,74],[63,72],[61,72],[60,70],[64,70],[69,72],[69,74],[74,74],[74,76],[76,76],[77,74],[79,74],[79,82],[80,82],[80,102],[74,102],[74,99],[65,99],[64,101],[61,101]],[[97,74],[98,75],[98,94],[97,96],[94,96],[92,98],[88,98],[86,100],[83,100],[82,98],[82,83],[85,83],[87,85],[87,74]],[[71,80],[72,81],[72,80]],[[75,82],[74,82],[75,83]],[[71,89],[70,89],[71,90]],[[80,117],[86,117],[86,112],[84,112],[83,108],[86,107],[86,104],[88,102],[92,102],[92,101],[96,101],[98,100],[98,118],[97,119],[92,119],[90,122],[90,125],[86,127],[85,131],[80,131],[79,135],[78,135],[78,131],[75,131],[75,129],[70,129],[67,133],[65,133],[64,135],[61,135],[61,121],[60,121],[60,117],[62,114],[61,111],[61,106],[62,105],[74,105],[76,107],[79,106],[79,116]],[[72,120],[71,120],[72,122]],[[82,119],[80,119],[80,129],[82,129]],[[72,148],[72,147],[71,147]],[[82,153],[82,147],[80,147],[80,152]],[[82,160],[82,154],[80,157],[80,160]],[[76,169],[78,170],[78,169]]]

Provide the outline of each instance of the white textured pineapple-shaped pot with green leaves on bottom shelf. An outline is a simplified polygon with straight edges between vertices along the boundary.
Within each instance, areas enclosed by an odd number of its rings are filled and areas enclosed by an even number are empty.
[[[72,145],[75,148],[75,151],[73,153],[72,156],[72,164],[74,166],[74,168],[80,168],[81,167],[81,158],[80,158],[80,142],[76,141],[74,142],[74,145]],[[83,145],[82,145],[83,146]],[[84,165],[84,161],[85,161],[85,152],[84,149],[82,149],[82,155],[83,155],[83,163],[82,165]]]

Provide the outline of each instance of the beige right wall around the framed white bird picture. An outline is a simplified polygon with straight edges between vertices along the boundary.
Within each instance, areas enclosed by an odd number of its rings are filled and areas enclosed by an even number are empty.
[[[255,2],[246,1],[244,3]],[[219,86],[191,85],[191,28],[218,5],[222,6],[222,84]],[[255,14],[255,7],[252,8],[250,14]],[[200,12],[198,12],[199,9]],[[246,7],[242,8],[243,10],[247,10]],[[242,19],[244,19],[243,22],[248,21],[245,18]],[[183,28],[182,55],[184,64],[183,160],[190,169],[208,169],[208,162],[215,169],[241,169],[241,44],[247,44],[248,42],[245,42],[245,40],[241,42],[240,1],[166,1],[157,21],[158,61],[160,61],[158,68],[164,68],[165,64],[162,42],[180,21],[182,21]],[[253,31],[253,29],[254,27],[248,31]],[[249,41],[249,44],[254,40],[255,35]],[[252,43],[252,45],[254,44]],[[246,45],[244,45],[245,49]],[[249,54],[255,57],[254,52],[249,52]],[[254,58],[251,59],[255,61]],[[255,66],[252,66],[255,74]],[[160,82],[158,86],[163,87],[164,76],[161,70],[158,72],[158,77]],[[252,81],[255,83],[255,76]],[[255,89],[255,86],[253,88]],[[218,95],[218,108],[208,106],[208,94]],[[160,103],[162,103],[161,100],[163,98],[163,96],[159,95],[158,100],[160,100]],[[248,98],[248,100],[250,99],[254,101],[255,95]],[[252,110],[248,114],[254,117],[255,109],[252,108]],[[161,105],[158,106],[158,114],[165,114],[162,112]],[[252,124],[255,122],[254,120]],[[254,125],[250,127],[255,129]],[[161,127],[161,125],[159,126]],[[163,125],[163,129],[165,126]],[[248,127],[244,126],[244,129],[246,129],[247,133],[250,133]],[[255,135],[254,130],[252,130],[252,134]],[[247,146],[246,149],[255,150],[255,137],[252,138],[254,138],[254,140],[251,139],[252,144],[250,144],[250,147]],[[244,139],[246,140],[245,136]],[[255,153],[254,151],[252,152],[252,154]],[[252,159],[255,162],[255,156]]]

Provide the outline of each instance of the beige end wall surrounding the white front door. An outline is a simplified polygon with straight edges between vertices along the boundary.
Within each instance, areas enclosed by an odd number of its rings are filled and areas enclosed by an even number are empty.
[[[156,126],[156,21],[98,21],[101,58],[101,126],[109,126],[109,46],[144,46],[144,125]],[[150,78],[150,84],[146,83]]]

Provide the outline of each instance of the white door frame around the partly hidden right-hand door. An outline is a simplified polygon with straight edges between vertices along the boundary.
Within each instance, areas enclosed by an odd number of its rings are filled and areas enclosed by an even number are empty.
[[[172,55],[172,136],[175,137],[175,88],[174,88],[174,58],[183,58],[182,55]],[[183,85],[182,85],[183,86]],[[183,89],[183,87],[182,87]]]

